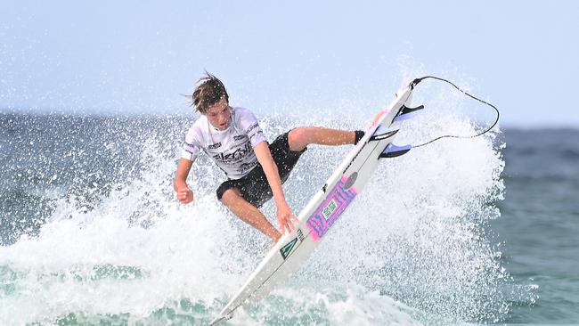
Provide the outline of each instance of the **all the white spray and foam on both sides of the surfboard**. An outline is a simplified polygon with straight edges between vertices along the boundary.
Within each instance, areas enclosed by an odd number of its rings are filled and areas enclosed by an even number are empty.
[[[457,97],[424,102],[424,115],[407,123],[396,143],[476,131],[453,111],[461,105]],[[361,128],[372,117],[363,112],[336,120],[320,113],[291,123],[266,117],[262,126],[273,138],[291,124]],[[444,140],[385,160],[306,268],[230,322],[500,319],[506,307],[497,285],[508,275],[484,231],[485,221],[499,215],[493,201],[502,196],[503,162],[493,142],[493,134]],[[284,186],[295,213],[338,165],[330,162],[348,150],[312,146],[306,152]],[[138,179],[119,181],[108,196],[91,203],[92,209],[74,198],[62,199],[37,237],[0,248],[1,264],[16,275],[12,294],[0,298],[0,323],[50,323],[79,312],[130,314],[133,323],[181,298],[202,303],[207,308],[202,318],[214,317],[269,243],[205,189],[223,176],[202,161],[190,180],[195,203],[176,203],[171,188],[175,153],[167,155],[149,140],[138,158],[143,167]],[[265,214],[274,223],[271,203]]]

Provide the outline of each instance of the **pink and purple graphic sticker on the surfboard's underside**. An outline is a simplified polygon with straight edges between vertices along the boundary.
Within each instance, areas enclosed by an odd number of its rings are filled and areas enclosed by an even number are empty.
[[[314,214],[307,219],[307,226],[312,230],[314,241],[319,240],[328,232],[331,224],[344,212],[347,206],[354,200],[356,191],[354,187],[345,189],[346,175],[328,192],[328,198],[320,204]]]

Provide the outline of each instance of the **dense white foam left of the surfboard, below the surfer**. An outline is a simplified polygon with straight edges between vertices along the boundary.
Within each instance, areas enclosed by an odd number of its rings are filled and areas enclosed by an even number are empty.
[[[151,162],[155,149],[149,151],[144,161]],[[253,262],[253,253],[234,245],[240,234],[213,198],[187,207],[167,200],[163,189],[174,168],[173,160],[153,164],[92,210],[60,200],[37,237],[0,249],[2,264],[18,275],[15,295],[2,298],[0,323],[76,312],[138,320],[171,298],[210,306],[230,293],[237,286],[230,275],[247,275],[244,261]]]

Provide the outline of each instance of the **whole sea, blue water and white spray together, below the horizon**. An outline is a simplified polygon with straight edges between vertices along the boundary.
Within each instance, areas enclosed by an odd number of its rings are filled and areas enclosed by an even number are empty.
[[[260,122],[272,140],[290,126],[360,128],[369,118]],[[189,180],[194,204],[175,200],[192,119],[0,115],[0,324],[216,316],[269,242],[216,201],[224,176],[204,156]],[[475,129],[426,114],[400,141]],[[304,268],[228,324],[579,322],[577,139],[577,130],[507,129],[381,164]],[[347,151],[307,152],[284,186],[296,213]],[[265,214],[274,220],[271,203]]]

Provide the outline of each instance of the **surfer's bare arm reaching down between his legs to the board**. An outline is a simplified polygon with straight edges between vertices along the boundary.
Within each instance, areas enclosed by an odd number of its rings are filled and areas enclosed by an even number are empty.
[[[292,222],[297,222],[296,216],[291,212],[290,206],[285,200],[283,188],[281,187],[281,178],[277,165],[272,158],[272,153],[266,142],[258,143],[253,148],[256,152],[257,160],[264,169],[267,183],[272,188],[273,200],[277,208],[277,220],[280,224],[281,232],[291,232],[293,230]]]

